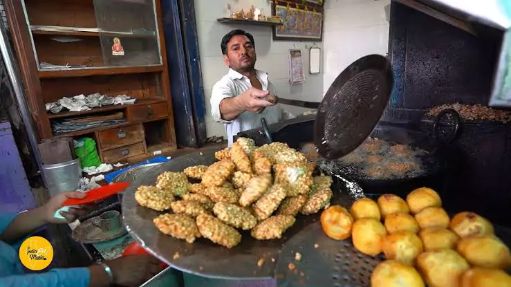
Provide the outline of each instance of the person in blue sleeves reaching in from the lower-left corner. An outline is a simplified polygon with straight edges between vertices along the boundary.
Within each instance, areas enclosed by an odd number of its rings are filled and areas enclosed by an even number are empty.
[[[106,287],[140,286],[162,270],[158,259],[149,255],[129,255],[102,264],[80,268],[56,268],[27,272],[19,259],[21,242],[34,230],[48,223],[73,222],[86,210],[71,208],[55,213],[67,198],[84,198],[81,192],[61,192],[41,207],[19,214],[0,211],[0,287]]]

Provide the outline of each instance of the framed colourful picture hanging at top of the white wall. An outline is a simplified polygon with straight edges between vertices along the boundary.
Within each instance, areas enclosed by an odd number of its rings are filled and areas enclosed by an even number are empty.
[[[274,1],[272,15],[279,16],[282,25],[273,28],[275,41],[322,41],[323,6],[319,0],[296,3]],[[310,2],[310,3],[309,3]]]

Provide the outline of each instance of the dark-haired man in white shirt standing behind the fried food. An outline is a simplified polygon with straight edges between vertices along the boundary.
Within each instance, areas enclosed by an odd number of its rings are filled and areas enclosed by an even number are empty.
[[[225,124],[228,146],[240,131],[260,126],[261,118],[268,124],[293,118],[279,104],[265,100],[276,95],[275,86],[268,74],[254,68],[257,59],[254,37],[243,30],[232,30],[220,44],[223,62],[230,68],[213,86],[211,95],[212,116]]]

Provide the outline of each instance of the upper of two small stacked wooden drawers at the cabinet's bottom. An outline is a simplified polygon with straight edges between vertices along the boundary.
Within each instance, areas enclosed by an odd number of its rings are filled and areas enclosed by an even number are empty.
[[[104,151],[142,142],[144,140],[144,131],[140,124],[134,124],[128,127],[100,131],[98,136],[100,138],[101,150]]]

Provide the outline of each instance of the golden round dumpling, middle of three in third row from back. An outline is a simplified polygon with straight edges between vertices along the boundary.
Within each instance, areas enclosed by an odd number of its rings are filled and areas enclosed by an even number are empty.
[[[445,228],[425,228],[419,231],[425,251],[442,249],[454,249],[460,237],[451,230]]]

